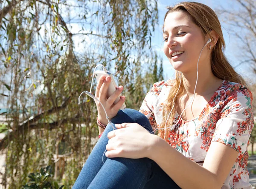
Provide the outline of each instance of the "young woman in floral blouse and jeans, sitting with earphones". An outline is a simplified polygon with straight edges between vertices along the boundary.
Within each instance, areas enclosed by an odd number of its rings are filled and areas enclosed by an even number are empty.
[[[124,97],[113,102],[123,87],[107,99],[110,78],[101,78],[96,97],[116,130],[97,104],[99,132],[107,126],[73,189],[252,188],[252,93],[223,54],[218,17],[195,2],[167,9],[163,49],[176,79],[155,83],[140,113],[118,111]]]

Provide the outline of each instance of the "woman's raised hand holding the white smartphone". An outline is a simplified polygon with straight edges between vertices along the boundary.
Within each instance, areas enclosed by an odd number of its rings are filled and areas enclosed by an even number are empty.
[[[116,103],[116,105],[113,105],[114,101],[123,90],[122,86],[119,86],[116,89],[116,91],[109,98],[107,98],[107,91],[110,83],[111,83],[111,78],[109,76],[108,77],[101,76],[97,84],[96,93],[95,93],[95,96],[99,99],[99,101],[104,106],[106,112],[108,113],[109,119],[116,116],[118,110],[121,108],[122,104],[125,102],[125,96],[122,96],[120,100]],[[108,120],[106,118],[106,114],[104,112],[104,109],[102,108],[102,105],[98,101],[95,101],[95,102],[97,105],[99,122],[101,122],[104,125],[107,125]]]

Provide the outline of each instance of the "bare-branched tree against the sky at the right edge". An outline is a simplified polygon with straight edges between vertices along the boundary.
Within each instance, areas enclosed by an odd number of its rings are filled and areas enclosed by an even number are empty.
[[[256,73],[256,1],[255,0],[234,0],[230,9],[220,7],[216,9],[220,20],[228,27],[230,38],[235,38],[239,52],[233,52],[238,60],[236,70],[241,67],[248,67],[248,72]],[[247,76],[248,77],[248,76]],[[256,107],[256,81],[255,77],[250,78],[247,84],[253,93],[253,109]],[[256,113],[254,111],[254,113]],[[254,142],[256,140],[256,127],[250,136],[250,150],[253,155]]]

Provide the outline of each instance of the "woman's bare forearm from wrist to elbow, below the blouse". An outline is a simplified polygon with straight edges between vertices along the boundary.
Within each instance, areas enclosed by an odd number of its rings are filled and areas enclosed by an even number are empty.
[[[157,137],[157,136],[156,136]],[[215,174],[172,148],[160,137],[152,148],[154,160],[182,189],[220,189]],[[218,185],[218,186],[217,186]]]

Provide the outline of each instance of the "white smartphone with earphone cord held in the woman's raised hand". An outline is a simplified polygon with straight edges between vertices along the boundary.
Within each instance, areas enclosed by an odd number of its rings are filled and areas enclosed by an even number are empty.
[[[107,91],[107,98],[108,98],[116,91],[118,85],[117,85],[116,81],[114,80],[113,75],[110,72],[105,73],[105,71],[103,71],[103,70],[96,70],[94,72],[94,77],[96,77],[97,82],[99,82],[99,78],[101,76],[106,76],[106,77],[110,76],[110,78],[111,78],[111,83],[109,84],[108,91]],[[121,96],[122,95],[120,94],[116,98],[115,102],[113,103],[114,105],[119,101]],[[125,108],[126,108],[126,105],[125,105],[125,103],[123,103],[123,105],[121,106],[120,109],[122,110],[122,109],[125,109]]]

